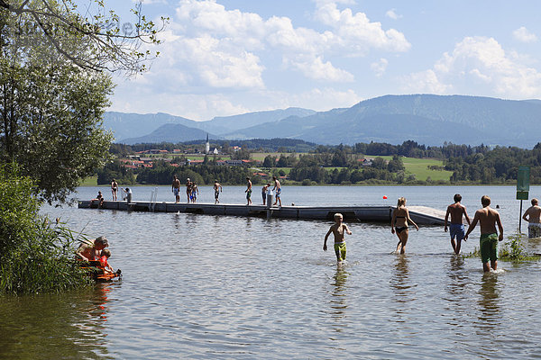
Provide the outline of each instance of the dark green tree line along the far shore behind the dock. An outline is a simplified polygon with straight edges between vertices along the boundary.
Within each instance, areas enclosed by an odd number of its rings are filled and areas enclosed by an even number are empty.
[[[259,142],[253,140],[253,143]],[[152,145],[153,148],[160,148]],[[242,151],[231,152],[231,156],[248,159],[252,151],[251,148],[243,148]],[[381,156],[392,158],[387,161]],[[365,157],[371,157],[371,166],[363,164]],[[531,168],[531,184],[541,184],[541,143],[531,150],[447,143],[441,147],[426,147],[412,140],[404,141],[401,145],[377,142],[353,146],[319,145],[305,154],[285,152],[279,157],[269,154],[261,166],[268,175],[283,176],[286,172],[282,169],[289,168],[289,180],[302,184],[434,184],[430,179],[420,180],[415,175],[407,174],[402,157],[443,160],[443,166],[432,166],[432,169],[452,171],[453,175],[449,181],[436,184],[509,184],[517,179],[518,166],[524,165]],[[183,164],[180,161],[182,157],[176,159]],[[98,184],[107,184],[112,176],[121,178],[124,184],[169,184],[175,173],[180,178],[196,178],[200,184],[212,184],[215,179],[224,184],[243,184],[246,176],[253,176],[253,170],[248,167],[219,166],[215,159],[206,157],[200,166],[171,167],[158,162],[153,168],[137,169],[135,172],[123,170],[119,163],[114,162],[98,171]],[[255,175],[253,181],[258,184],[266,179],[265,176]]]

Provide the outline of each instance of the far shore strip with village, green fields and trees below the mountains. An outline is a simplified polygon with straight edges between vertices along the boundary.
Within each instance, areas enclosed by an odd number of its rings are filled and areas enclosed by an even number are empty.
[[[426,147],[415,141],[402,145],[359,143],[323,146],[302,140],[215,142],[206,144],[112,144],[114,160],[96,170],[96,183],[170,184],[173,175],[197,184],[265,184],[272,176],[295,185],[506,185],[516,184],[518,166],[530,166],[530,184],[541,184],[541,143],[531,150],[446,144]],[[284,146],[278,147],[280,143]],[[299,145],[310,145],[298,152]],[[287,146],[286,146],[287,145]],[[278,148],[276,148],[278,147]],[[306,151],[306,150],[305,150]]]

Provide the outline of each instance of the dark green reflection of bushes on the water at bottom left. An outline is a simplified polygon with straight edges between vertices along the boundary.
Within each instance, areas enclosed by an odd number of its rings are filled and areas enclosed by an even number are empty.
[[[104,323],[108,292],[96,287],[0,299],[0,358],[110,358]]]

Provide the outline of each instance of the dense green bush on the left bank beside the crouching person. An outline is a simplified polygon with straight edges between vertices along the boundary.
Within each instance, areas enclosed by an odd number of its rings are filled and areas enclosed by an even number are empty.
[[[75,260],[80,235],[39,214],[34,183],[0,167],[0,294],[63,292],[92,284]]]

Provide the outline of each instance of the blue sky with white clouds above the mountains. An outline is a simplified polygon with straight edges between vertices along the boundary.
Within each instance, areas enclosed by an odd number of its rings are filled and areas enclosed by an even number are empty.
[[[121,22],[126,3],[108,2]],[[541,98],[541,2],[145,0],[142,11],[170,17],[160,57],[115,76],[110,111],[202,121],[384,94]]]

